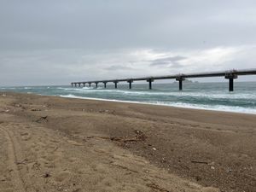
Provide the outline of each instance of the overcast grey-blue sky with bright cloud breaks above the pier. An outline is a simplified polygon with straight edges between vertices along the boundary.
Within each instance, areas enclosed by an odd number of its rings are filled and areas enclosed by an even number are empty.
[[[233,68],[256,68],[255,0],[0,0],[0,85]]]

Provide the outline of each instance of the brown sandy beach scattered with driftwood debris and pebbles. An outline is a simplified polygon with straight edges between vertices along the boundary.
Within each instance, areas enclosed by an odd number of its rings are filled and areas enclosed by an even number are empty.
[[[0,93],[0,191],[256,191],[256,115]]]

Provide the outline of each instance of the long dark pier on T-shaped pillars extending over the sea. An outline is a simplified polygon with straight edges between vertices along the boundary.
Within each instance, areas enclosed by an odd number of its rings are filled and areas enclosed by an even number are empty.
[[[244,70],[229,70],[229,71],[222,71],[222,72],[212,72],[212,73],[189,73],[189,74],[176,74],[176,75],[166,75],[166,76],[155,76],[155,77],[145,77],[145,78],[130,78],[130,79],[109,79],[109,80],[96,80],[96,81],[84,81],[84,82],[73,82],[71,83],[72,86],[79,86],[81,84],[84,86],[86,84],[96,84],[96,88],[98,84],[104,84],[104,88],[107,88],[108,83],[113,83],[114,88],[118,89],[119,82],[127,82],[129,84],[129,89],[131,89],[131,84],[134,81],[146,81],[148,82],[148,89],[152,89],[152,83],[155,80],[160,79],[176,79],[178,81],[178,89],[183,90],[183,81],[185,79],[193,79],[193,78],[210,78],[210,77],[224,77],[224,79],[229,80],[229,90],[234,91],[234,79],[237,79],[238,76],[245,76],[245,75],[256,75],[256,69],[244,69]]]

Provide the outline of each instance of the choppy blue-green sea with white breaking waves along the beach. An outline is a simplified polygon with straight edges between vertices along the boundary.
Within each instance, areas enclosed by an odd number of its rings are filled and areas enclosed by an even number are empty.
[[[29,86],[1,87],[0,90],[45,96],[146,102],[182,108],[256,113],[256,82],[236,82],[234,92],[229,92],[227,83],[188,83],[183,84],[183,91],[178,90],[177,84],[153,84],[153,90],[148,90],[148,84],[132,84],[131,90],[128,89],[128,84],[118,86],[117,90],[114,89],[113,84],[108,84],[107,89],[99,85],[98,89],[71,86]]]

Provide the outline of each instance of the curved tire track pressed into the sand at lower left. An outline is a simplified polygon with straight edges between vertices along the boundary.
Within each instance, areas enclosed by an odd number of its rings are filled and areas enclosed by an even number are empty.
[[[15,187],[15,192],[26,192],[24,181],[20,176],[20,171],[18,166],[16,165],[17,156],[15,153],[15,142],[11,137],[9,131],[5,130],[3,126],[0,126],[0,130],[4,132],[4,135],[8,141],[8,156],[9,156],[9,167],[12,178],[12,183]]]

